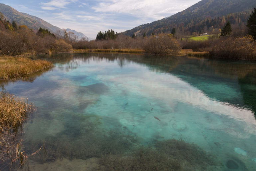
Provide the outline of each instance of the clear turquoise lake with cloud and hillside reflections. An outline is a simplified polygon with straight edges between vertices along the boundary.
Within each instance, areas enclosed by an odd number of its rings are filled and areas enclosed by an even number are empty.
[[[23,145],[31,154],[45,142],[47,157],[44,164],[31,157],[32,170],[93,170],[99,159],[141,159],[152,150],[153,159],[175,158],[183,170],[255,170],[255,63],[104,53],[55,58],[47,58],[52,70],[29,81],[2,83],[37,107],[24,124]]]

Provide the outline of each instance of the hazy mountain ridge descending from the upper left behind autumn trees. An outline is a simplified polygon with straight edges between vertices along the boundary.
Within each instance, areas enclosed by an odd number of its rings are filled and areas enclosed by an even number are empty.
[[[51,25],[50,23],[42,20],[41,18],[26,14],[26,13],[21,13],[10,6],[1,4],[1,3],[0,3],[0,12],[10,22],[15,21],[18,25],[26,25],[29,28],[32,28],[34,30],[38,30],[40,27],[48,29],[52,33],[55,33],[57,30],[64,30],[64,29],[60,29],[59,27]],[[69,31],[74,32],[74,34],[78,36],[78,40],[82,38],[89,39],[83,33],[80,33],[80,32],[78,33],[75,30],[71,30],[71,29],[65,29],[65,30],[67,30],[67,32]]]

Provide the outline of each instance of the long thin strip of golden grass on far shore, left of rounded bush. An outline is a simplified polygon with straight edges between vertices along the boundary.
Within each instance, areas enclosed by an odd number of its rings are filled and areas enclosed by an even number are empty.
[[[116,52],[116,53],[144,53],[141,49],[73,49],[73,53],[86,52]]]

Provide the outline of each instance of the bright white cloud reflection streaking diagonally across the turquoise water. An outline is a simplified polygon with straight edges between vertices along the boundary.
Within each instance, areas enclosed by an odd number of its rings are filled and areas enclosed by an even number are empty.
[[[248,133],[256,134],[255,130],[251,129],[251,127],[256,127],[256,122],[250,110],[210,99],[202,91],[172,75],[166,76],[151,73],[150,76],[144,74],[141,77],[147,79],[142,80],[139,77],[130,77],[129,75],[111,77],[110,79],[116,82],[117,85],[122,84],[127,90],[136,91],[142,95],[147,93],[147,96],[157,98],[168,104],[180,101],[189,106],[196,106],[199,109],[220,114],[220,116],[225,115],[236,119],[236,121],[244,121],[248,125],[243,126],[242,129],[245,129]],[[227,125],[222,123],[222,126],[219,128],[225,131],[226,127]],[[242,136],[240,133],[230,130],[227,130],[227,133],[238,135],[239,137]]]

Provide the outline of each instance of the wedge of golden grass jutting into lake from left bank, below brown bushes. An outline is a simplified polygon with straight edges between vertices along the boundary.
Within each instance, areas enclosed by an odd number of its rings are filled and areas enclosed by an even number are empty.
[[[31,60],[26,57],[0,57],[0,80],[26,78],[31,74],[53,67],[45,60]]]

